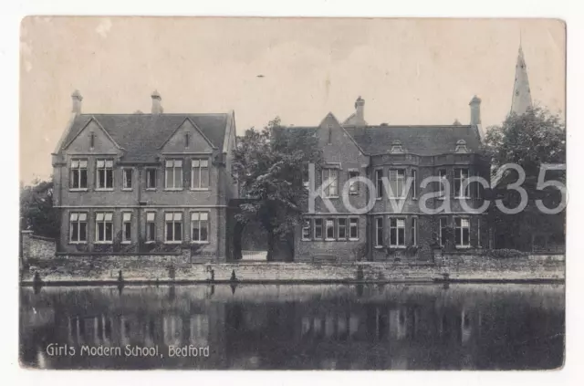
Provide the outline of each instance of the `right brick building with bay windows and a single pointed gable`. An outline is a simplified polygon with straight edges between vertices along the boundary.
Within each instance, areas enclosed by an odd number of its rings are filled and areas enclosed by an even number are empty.
[[[314,213],[306,214],[302,229],[295,237],[296,261],[393,261],[429,260],[432,248],[469,252],[488,246],[489,230],[485,214],[464,211],[461,201],[472,208],[483,204],[483,188],[471,183],[461,189],[465,179],[482,176],[489,181],[489,164],[478,154],[481,145],[481,100],[474,97],[469,105],[471,122],[449,126],[368,125],[364,117],[365,101],[355,102],[355,112],[342,123],[329,113],[317,127],[290,128],[312,130],[318,136],[325,165],[316,172],[314,183],[323,182],[324,196],[316,199]],[[348,209],[341,192],[351,177],[367,177],[365,183],[347,185],[350,206],[361,209],[373,202],[364,213]],[[450,193],[438,182],[421,187],[423,179],[445,179]],[[412,179],[407,189],[407,179]],[[384,188],[383,179],[391,186]],[[443,189],[443,190],[441,190]],[[436,209],[445,203],[450,208],[438,214],[423,213],[421,197],[442,192],[426,201]],[[373,196],[371,196],[373,195]],[[392,195],[392,197],[390,197]],[[401,211],[391,206],[403,203]]]

